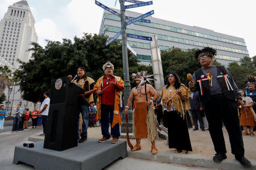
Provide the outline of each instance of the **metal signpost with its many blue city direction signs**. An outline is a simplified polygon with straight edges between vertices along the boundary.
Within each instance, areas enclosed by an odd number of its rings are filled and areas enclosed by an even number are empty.
[[[135,3],[135,5],[127,5],[125,6],[125,1],[126,2],[131,2]],[[149,2],[142,2],[142,1],[135,1],[135,0],[119,0],[120,3],[120,13],[112,10],[111,8],[103,5],[102,3],[98,2],[95,0],[95,4],[104,8],[105,10],[111,12],[112,14],[119,16],[121,18],[121,31],[119,31],[112,39],[110,39],[108,42],[106,42],[106,45],[109,45],[112,41],[117,39],[119,35],[122,34],[122,57],[123,57],[123,81],[125,82],[125,90],[123,91],[123,96],[124,96],[124,105],[126,105],[126,101],[128,100],[128,97],[131,92],[131,85],[130,85],[130,78],[129,78],[129,65],[128,65],[128,54],[127,54],[127,36],[130,38],[134,39],[141,39],[141,40],[147,40],[147,41],[152,41],[151,37],[146,37],[146,36],[140,36],[140,35],[133,35],[130,33],[126,34],[126,26],[133,24],[135,22],[146,22],[150,23],[150,20],[146,20],[144,18],[153,15],[154,10],[147,12],[146,14],[143,14],[141,16],[138,16],[137,18],[133,18],[130,16],[125,16],[125,9],[126,8],[134,8],[134,7],[141,7],[141,6],[147,6],[147,5],[152,5],[152,1]],[[129,21],[126,22],[126,19],[129,19]],[[129,49],[131,50],[132,48],[129,46]],[[131,52],[133,52],[136,55],[136,52],[132,49]],[[132,107],[130,106],[128,109],[128,129],[129,133],[133,132],[133,110],[131,109]],[[121,133],[126,133],[126,120],[125,116],[122,116],[122,122],[123,125],[121,127]]]

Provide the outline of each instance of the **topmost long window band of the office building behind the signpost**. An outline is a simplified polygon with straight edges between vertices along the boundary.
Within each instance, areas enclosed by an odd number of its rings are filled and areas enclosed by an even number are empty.
[[[113,19],[113,20],[120,20],[120,18],[118,16],[115,16],[115,15],[112,15],[112,14],[106,14],[105,13],[104,17],[108,18],[108,19]],[[184,34],[187,34],[187,35],[192,35],[192,36],[197,36],[197,37],[203,37],[205,39],[211,39],[211,40],[216,40],[216,41],[228,42],[230,44],[246,46],[245,42],[240,42],[240,41],[236,41],[236,40],[229,40],[229,39],[225,39],[225,38],[222,38],[222,37],[207,35],[207,34],[204,34],[204,33],[195,32],[195,31],[189,31],[189,30],[186,30],[186,29],[181,29],[181,28],[176,28],[176,27],[170,27],[168,25],[163,25],[163,24],[158,24],[158,23],[136,22],[135,24],[145,25],[147,27],[152,27],[152,28],[165,29],[167,31],[179,32],[179,33],[184,33]]]

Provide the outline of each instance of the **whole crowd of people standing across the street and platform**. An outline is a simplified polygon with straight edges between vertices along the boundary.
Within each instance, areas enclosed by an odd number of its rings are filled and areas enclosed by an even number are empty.
[[[192,128],[193,122],[193,131],[199,130],[199,126],[201,131],[209,130],[216,151],[213,161],[220,163],[227,158],[222,131],[224,125],[229,134],[232,154],[242,165],[250,167],[249,160],[244,156],[242,135],[254,136],[255,77],[246,77],[246,91],[238,90],[232,75],[224,66],[212,65],[215,55],[216,50],[212,48],[196,50],[195,58],[199,60],[201,68],[193,73],[193,80],[188,83],[189,87],[180,81],[179,75],[170,73],[166,80],[167,85],[162,88],[160,94],[147,84],[148,79],[151,79],[147,72],[133,74],[137,86],[131,90],[127,102],[122,101],[124,82],[121,77],[113,75],[114,65],[110,61],[102,66],[104,75],[96,83],[86,75],[85,68],[80,66],[77,69],[78,77],[73,80],[73,83],[85,91],[77,99],[78,142],[85,142],[88,127],[98,126],[100,122],[102,138],[98,139],[98,142],[108,141],[112,136],[111,143],[117,143],[120,137],[119,126],[122,125],[121,114],[128,114],[130,105],[134,103],[133,132],[136,145],[131,151],[141,150],[141,139],[148,138],[151,141],[151,153],[157,154],[155,140],[158,137],[158,124],[160,125],[163,120],[163,126],[168,129],[169,148],[175,148],[174,153],[188,154],[192,151],[188,128]],[[71,75],[69,78],[72,80]],[[96,104],[93,95],[97,96]],[[29,118],[32,118],[32,128],[36,128],[40,115],[44,135],[49,111],[49,92],[45,92],[44,97],[40,111],[30,113],[25,109],[23,129],[27,128]],[[5,114],[6,111],[1,106],[0,129]],[[18,104],[14,111],[11,132],[18,131],[22,114],[23,109]],[[192,121],[189,115],[192,116]]]

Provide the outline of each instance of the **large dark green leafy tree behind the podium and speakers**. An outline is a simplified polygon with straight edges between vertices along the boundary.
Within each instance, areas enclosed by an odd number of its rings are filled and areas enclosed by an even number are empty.
[[[113,74],[122,77],[121,43],[115,40],[106,46],[108,39],[105,35],[85,33],[81,38],[74,37],[74,42],[68,39],[63,39],[63,42],[47,41],[45,48],[32,42],[32,59],[27,63],[20,61],[18,71],[23,99],[34,103],[42,101],[43,92],[51,89],[52,79],[75,75],[79,66],[85,67],[86,74],[96,81],[104,75],[104,63],[111,61],[114,65]],[[150,69],[148,66],[139,66],[138,59],[130,52],[128,54],[130,74],[142,71],[139,69]]]

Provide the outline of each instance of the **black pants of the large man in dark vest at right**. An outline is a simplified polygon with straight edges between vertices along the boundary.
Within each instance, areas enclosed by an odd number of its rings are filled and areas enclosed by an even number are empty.
[[[226,146],[222,131],[222,121],[229,134],[232,154],[243,156],[242,131],[238,118],[236,100],[229,100],[222,94],[210,96],[210,100],[204,103],[205,115],[209,123],[210,137],[217,154],[225,154]]]

